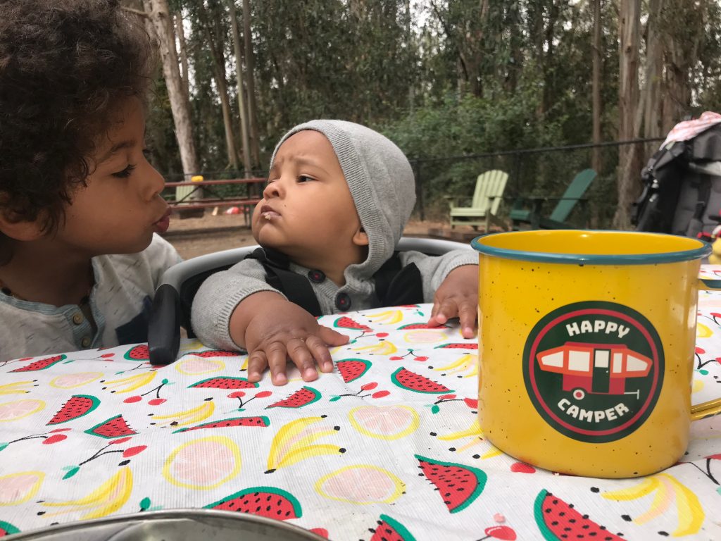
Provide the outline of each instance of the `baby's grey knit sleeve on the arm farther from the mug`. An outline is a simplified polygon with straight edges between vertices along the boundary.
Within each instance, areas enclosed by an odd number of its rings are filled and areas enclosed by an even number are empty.
[[[239,349],[230,338],[230,317],[238,304],[258,291],[280,291],[265,281],[265,269],[255,259],[245,259],[227,271],[212,274],[203,282],[193,299],[193,331],[205,346]],[[284,296],[284,295],[283,295]]]

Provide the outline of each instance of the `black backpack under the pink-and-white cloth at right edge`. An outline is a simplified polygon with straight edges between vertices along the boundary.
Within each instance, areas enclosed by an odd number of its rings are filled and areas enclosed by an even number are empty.
[[[660,149],[641,179],[632,208],[637,231],[712,240],[721,222],[721,125]]]

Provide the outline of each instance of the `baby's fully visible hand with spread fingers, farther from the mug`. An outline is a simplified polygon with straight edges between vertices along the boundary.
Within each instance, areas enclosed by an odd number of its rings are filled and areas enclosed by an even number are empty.
[[[270,366],[273,384],[286,384],[286,362],[290,358],[301,371],[303,380],[311,382],[318,377],[316,363],[321,371],[333,370],[328,346],[345,343],[348,343],[347,335],[318,325],[315,317],[297,304],[273,299],[256,310],[245,329],[248,380],[259,381],[265,368]]]

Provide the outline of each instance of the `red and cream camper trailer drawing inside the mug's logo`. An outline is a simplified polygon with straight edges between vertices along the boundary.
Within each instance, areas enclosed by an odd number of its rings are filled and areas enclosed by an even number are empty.
[[[626,379],[645,377],[653,366],[647,356],[622,344],[566,342],[536,354],[541,370],[563,374],[563,390],[576,400],[593,395],[639,395],[626,391]]]

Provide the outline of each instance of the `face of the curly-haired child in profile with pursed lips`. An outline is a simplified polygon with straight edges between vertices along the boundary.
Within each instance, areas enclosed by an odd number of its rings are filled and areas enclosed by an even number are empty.
[[[89,255],[133,253],[167,230],[169,209],[159,195],[165,182],[143,154],[144,136],[143,107],[131,98],[98,141],[87,188],[73,193],[56,239]]]

